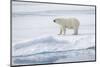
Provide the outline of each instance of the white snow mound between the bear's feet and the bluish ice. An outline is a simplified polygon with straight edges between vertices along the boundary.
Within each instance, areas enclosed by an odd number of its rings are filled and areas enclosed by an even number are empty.
[[[25,56],[41,52],[56,52],[76,49],[86,49],[95,46],[94,37],[42,36],[29,41],[20,42],[13,46],[13,56]],[[70,40],[68,39],[70,38]]]

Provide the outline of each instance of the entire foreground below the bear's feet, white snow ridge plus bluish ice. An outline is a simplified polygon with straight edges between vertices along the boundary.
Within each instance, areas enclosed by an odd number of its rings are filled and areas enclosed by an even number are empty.
[[[20,42],[13,46],[13,64],[95,61],[94,39],[93,36],[49,35]]]

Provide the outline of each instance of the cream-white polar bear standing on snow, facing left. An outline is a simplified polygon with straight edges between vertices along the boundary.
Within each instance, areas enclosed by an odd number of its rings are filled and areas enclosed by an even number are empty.
[[[54,23],[57,23],[60,25],[60,33],[58,35],[65,35],[66,34],[66,28],[67,29],[73,29],[74,35],[78,35],[78,28],[80,25],[80,22],[76,18],[55,18],[53,20]]]

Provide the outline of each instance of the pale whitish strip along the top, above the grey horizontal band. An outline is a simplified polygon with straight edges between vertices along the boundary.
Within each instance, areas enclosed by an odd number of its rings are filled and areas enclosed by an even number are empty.
[[[13,2],[13,12],[36,12],[46,10],[95,10],[95,7],[76,6],[76,5],[61,5],[61,4],[46,4],[46,3],[29,3],[29,2]]]

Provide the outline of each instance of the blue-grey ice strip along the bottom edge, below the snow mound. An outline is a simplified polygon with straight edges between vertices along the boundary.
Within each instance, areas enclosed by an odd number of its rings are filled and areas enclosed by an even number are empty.
[[[13,57],[13,65],[48,64],[79,61],[95,61],[95,49],[40,52],[26,56]]]

